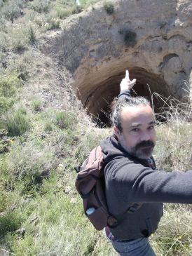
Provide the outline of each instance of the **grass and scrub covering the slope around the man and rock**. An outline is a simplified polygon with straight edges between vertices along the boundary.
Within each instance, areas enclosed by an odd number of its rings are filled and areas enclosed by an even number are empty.
[[[47,72],[52,64],[38,51],[48,30],[97,1],[80,2],[0,0],[0,255],[116,255],[86,219],[74,187],[74,166],[111,130],[96,128],[72,103],[57,105],[48,88],[55,70]],[[104,8],[114,13],[114,4]],[[135,43],[135,32],[122,34],[128,46]],[[167,171],[191,168],[191,108],[177,103],[157,126],[154,156]],[[191,255],[190,211],[165,206],[151,237],[158,256]]]

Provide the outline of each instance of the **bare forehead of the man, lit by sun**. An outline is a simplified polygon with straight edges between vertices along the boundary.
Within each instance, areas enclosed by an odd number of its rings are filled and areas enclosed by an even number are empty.
[[[121,110],[121,124],[123,123],[150,123],[154,121],[153,110],[149,105],[123,107]]]

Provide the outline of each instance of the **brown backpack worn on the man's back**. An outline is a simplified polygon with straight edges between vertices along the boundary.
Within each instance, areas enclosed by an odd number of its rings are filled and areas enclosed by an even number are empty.
[[[83,209],[97,230],[116,227],[118,220],[109,213],[104,189],[104,159],[102,148],[95,147],[81,166],[75,168],[76,189],[83,199]],[[126,213],[135,213],[142,203],[133,203]]]

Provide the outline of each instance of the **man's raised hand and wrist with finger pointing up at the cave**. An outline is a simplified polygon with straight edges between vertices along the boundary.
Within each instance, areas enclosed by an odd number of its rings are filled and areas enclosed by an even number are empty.
[[[125,78],[122,79],[120,83],[120,93],[118,95],[118,101],[124,100],[125,97],[130,97],[130,89],[132,86],[134,86],[136,83],[136,79],[130,80],[130,74],[128,72],[128,69],[125,73]]]

